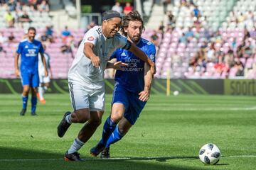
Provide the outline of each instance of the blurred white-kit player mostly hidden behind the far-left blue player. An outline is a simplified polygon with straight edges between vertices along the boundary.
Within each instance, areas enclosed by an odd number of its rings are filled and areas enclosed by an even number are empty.
[[[46,45],[43,45],[43,50],[46,50]],[[43,94],[47,89],[50,87],[50,78],[53,76],[53,72],[50,68],[50,56],[48,53],[44,53],[44,57],[46,60],[46,68],[48,73],[48,76],[45,76],[43,62],[41,60],[41,54],[38,55],[38,74],[39,74],[39,87],[38,87],[38,98],[41,103],[46,103],[46,99],[43,97]]]

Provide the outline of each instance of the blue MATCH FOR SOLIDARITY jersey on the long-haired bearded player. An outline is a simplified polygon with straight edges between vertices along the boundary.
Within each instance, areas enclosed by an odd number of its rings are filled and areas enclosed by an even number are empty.
[[[139,47],[153,62],[155,62],[156,47],[152,42],[141,38],[137,47]],[[117,62],[121,61],[128,64],[127,67],[124,67],[124,71],[117,70],[114,76],[114,81],[117,81],[119,85],[132,93],[139,93],[140,91],[143,91],[144,61],[140,60],[132,52],[121,48],[114,51],[110,59],[113,58],[116,58]]]

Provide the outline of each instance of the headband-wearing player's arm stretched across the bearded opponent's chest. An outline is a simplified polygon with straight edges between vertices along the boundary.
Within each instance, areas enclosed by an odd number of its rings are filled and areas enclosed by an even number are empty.
[[[154,62],[152,62],[149,59],[149,57],[142,50],[139,49],[139,47],[137,47],[136,45],[131,43],[131,47],[129,48],[129,51],[134,53],[134,55],[139,57],[139,59],[141,59],[144,62],[146,62],[147,64],[149,64],[152,74],[156,74],[156,67],[155,67]]]

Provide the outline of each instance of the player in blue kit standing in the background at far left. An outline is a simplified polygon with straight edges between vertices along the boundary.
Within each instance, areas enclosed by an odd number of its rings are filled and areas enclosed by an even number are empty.
[[[25,115],[28,103],[28,93],[31,89],[31,115],[36,115],[36,93],[39,86],[38,77],[38,54],[41,54],[45,74],[48,75],[46,69],[46,60],[43,55],[43,45],[40,41],[35,40],[36,29],[28,28],[28,38],[22,40],[18,45],[18,50],[15,54],[15,74],[16,77],[21,77],[23,85],[22,102],[23,107],[20,115]],[[21,68],[18,69],[18,57],[21,55]]]

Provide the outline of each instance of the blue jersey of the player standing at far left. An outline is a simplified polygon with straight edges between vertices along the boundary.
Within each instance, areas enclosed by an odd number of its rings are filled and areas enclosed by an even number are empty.
[[[21,72],[38,72],[38,53],[44,52],[40,41],[33,40],[33,42],[30,42],[23,40],[19,43],[16,52],[21,55]]]

